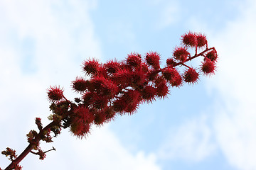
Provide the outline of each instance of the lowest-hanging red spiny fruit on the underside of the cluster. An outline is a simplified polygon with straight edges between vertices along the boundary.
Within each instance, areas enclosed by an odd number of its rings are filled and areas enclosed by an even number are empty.
[[[72,123],[70,125],[70,131],[73,132],[73,135],[82,139],[82,137],[86,137],[88,133],[90,133],[90,124],[78,122]]]

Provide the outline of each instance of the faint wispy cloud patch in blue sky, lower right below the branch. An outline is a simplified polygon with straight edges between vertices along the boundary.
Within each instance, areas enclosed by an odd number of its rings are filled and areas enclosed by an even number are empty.
[[[178,128],[171,130],[164,144],[161,145],[159,157],[163,159],[184,159],[200,162],[215,151],[206,115],[187,120]]]

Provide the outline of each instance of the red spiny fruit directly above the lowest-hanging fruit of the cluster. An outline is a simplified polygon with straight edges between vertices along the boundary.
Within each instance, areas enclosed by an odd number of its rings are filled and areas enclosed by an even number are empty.
[[[89,124],[92,123],[92,121],[94,120],[93,114],[85,106],[78,106],[78,108],[75,109],[74,113],[74,122]]]

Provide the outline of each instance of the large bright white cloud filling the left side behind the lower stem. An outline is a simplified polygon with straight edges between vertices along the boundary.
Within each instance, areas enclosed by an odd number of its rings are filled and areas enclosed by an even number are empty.
[[[60,84],[72,98],[70,81],[80,75],[80,62],[102,56],[89,16],[96,5],[95,1],[0,1],[4,16],[0,19],[1,150],[14,147],[21,153],[28,145],[26,133],[36,128],[34,118],[43,118],[46,125],[46,88]],[[33,40],[28,50],[33,52],[34,72],[22,68],[26,56],[21,46],[26,38]],[[131,154],[107,127],[95,130],[87,140],[63,132],[52,145],[57,151],[48,153],[43,162],[28,154],[21,165],[24,169],[160,169],[154,154]],[[4,156],[0,162],[1,168],[9,164]]]

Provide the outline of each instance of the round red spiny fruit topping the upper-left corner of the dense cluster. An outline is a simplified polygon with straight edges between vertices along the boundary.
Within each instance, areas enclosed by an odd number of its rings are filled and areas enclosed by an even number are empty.
[[[85,60],[82,63],[83,71],[85,71],[85,73],[87,73],[89,75],[97,74],[97,71],[98,71],[99,67],[100,67],[100,63],[95,59]]]

